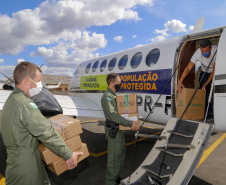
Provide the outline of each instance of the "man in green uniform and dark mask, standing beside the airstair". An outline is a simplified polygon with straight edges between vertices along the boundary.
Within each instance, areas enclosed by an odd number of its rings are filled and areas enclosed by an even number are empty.
[[[108,142],[106,185],[115,185],[120,183],[119,175],[123,170],[126,157],[124,132],[118,130],[116,124],[131,127],[132,130],[138,130],[139,124],[128,121],[118,114],[115,94],[115,91],[121,87],[121,80],[118,74],[110,73],[106,80],[108,88],[101,99],[106,118],[105,134]],[[109,123],[111,123],[111,126]]]

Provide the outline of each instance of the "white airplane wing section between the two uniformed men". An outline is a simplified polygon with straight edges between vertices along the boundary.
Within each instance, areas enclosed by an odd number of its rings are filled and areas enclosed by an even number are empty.
[[[88,116],[104,118],[104,113],[100,105],[100,100],[88,98],[54,95],[63,109],[64,115]]]

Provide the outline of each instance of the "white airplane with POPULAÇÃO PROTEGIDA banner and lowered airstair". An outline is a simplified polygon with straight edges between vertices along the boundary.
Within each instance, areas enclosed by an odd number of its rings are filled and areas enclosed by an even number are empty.
[[[117,94],[136,93],[140,118],[166,125],[144,162],[121,184],[188,184],[212,131],[226,131],[226,26],[202,30],[204,20],[197,21],[192,33],[82,62],[70,81],[68,96],[53,97],[43,88],[32,99],[44,115],[104,118],[101,97],[107,87],[106,76],[118,73],[122,87]],[[218,46],[212,123],[176,118],[178,79],[204,38]],[[197,86],[196,69],[184,80],[186,88]],[[0,97],[6,99],[9,93],[4,93],[0,91]],[[4,100],[0,98],[0,110],[1,104]],[[136,133],[136,138],[142,136]]]

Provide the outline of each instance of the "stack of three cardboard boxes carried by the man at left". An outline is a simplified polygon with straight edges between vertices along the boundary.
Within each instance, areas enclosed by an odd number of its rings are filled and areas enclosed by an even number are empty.
[[[73,152],[83,152],[83,155],[78,157],[78,162],[89,156],[87,145],[81,142],[79,135],[82,133],[79,120],[59,114],[49,118],[49,121]],[[55,174],[60,175],[68,169],[66,161],[54,154],[42,143],[39,144],[39,150],[43,161]]]

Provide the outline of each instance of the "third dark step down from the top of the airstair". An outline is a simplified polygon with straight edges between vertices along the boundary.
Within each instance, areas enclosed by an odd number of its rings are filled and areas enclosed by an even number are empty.
[[[143,168],[144,170],[146,170],[149,173],[152,173],[155,176],[159,175],[159,171],[160,171],[160,166],[158,165],[146,165],[146,166],[142,166],[141,168]],[[169,177],[170,175],[172,175],[172,172],[170,170],[164,169],[162,168],[161,170],[161,174],[160,174],[160,178],[166,178]]]

